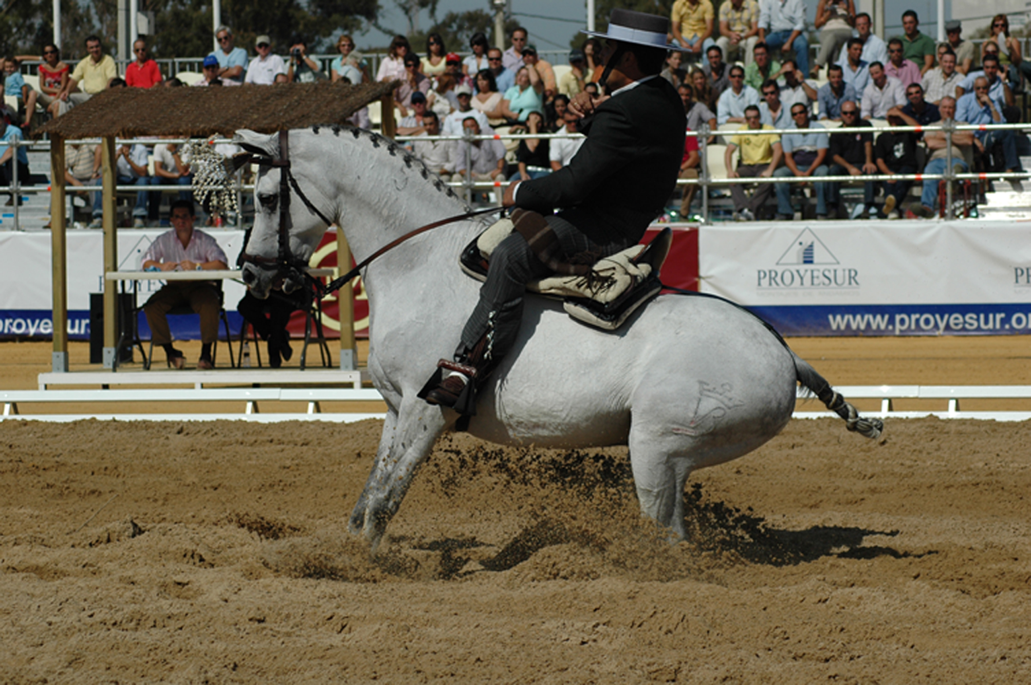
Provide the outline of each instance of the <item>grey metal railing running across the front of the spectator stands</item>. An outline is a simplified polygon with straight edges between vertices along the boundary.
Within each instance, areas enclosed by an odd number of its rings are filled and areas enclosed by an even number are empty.
[[[993,124],[993,125],[956,125],[953,122],[945,124],[935,124],[933,126],[902,126],[902,127],[857,127],[857,128],[837,128],[837,129],[823,129],[827,135],[835,134],[851,134],[851,133],[868,133],[876,135],[882,132],[944,132],[945,135],[945,169],[940,174],[924,174],[924,173],[912,173],[912,174],[861,174],[861,175],[846,175],[846,176],[772,176],[769,178],[765,177],[747,177],[747,178],[729,178],[729,177],[713,177],[709,171],[709,157],[711,156],[711,145],[708,143],[708,138],[711,136],[761,136],[761,135],[788,135],[788,134],[798,134],[797,129],[759,129],[750,130],[741,129],[737,131],[727,131],[727,130],[712,130],[708,129],[707,125],[703,125],[702,129],[699,131],[689,131],[687,135],[695,136],[698,138],[698,148],[699,148],[699,175],[698,178],[679,178],[677,179],[677,185],[700,185],[702,186],[701,193],[701,203],[702,203],[702,222],[708,224],[711,220],[709,216],[709,190],[712,187],[730,186],[737,183],[743,184],[758,184],[758,183],[861,183],[861,182],[880,182],[880,181],[945,181],[945,217],[954,218],[953,215],[953,199],[955,197],[955,183],[961,180],[994,180],[994,179],[1006,179],[1006,180],[1021,180],[1031,178],[1031,173],[1028,171],[1022,171],[1017,173],[1006,173],[1006,172],[968,172],[968,173],[955,173],[953,170],[953,165],[956,162],[964,161],[962,155],[958,153],[955,149],[953,143],[953,136],[957,132],[971,131],[971,132],[991,132],[999,130],[1011,130],[1011,131],[1023,131],[1025,129],[1031,128],[1029,125],[1025,124]],[[816,130],[816,129],[813,129]],[[537,134],[490,134],[490,135],[471,135],[466,131],[463,135],[440,135],[440,136],[397,136],[396,140],[402,143],[410,143],[414,141],[465,141],[465,169],[469,170],[472,168],[472,146],[471,143],[476,140],[481,141],[496,141],[496,140],[525,140],[525,139],[555,139],[555,138],[581,138],[583,134],[567,134],[567,133],[537,133]],[[85,139],[85,140],[69,140],[67,143],[72,144],[99,144],[101,141],[99,139]],[[153,145],[156,143],[175,143],[175,144],[186,144],[190,142],[190,139],[170,139],[170,138],[134,138],[134,139],[120,139],[119,144],[135,144],[140,143],[144,145]],[[217,139],[214,143],[230,143],[232,140],[228,139]],[[49,151],[51,142],[46,140],[41,141],[21,141],[12,140],[8,143],[14,148],[12,153],[12,160],[18,159],[18,149],[21,147],[27,147],[37,151]],[[723,153],[725,146],[721,145],[720,153]],[[830,166],[833,162],[828,160],[827,166]],[[0,195],[10,194],[12,198],[21,199],[23,194],[44,194],[51,192],[51,185],[47,183],[45,185],[23,185],[21,179],[19,178],[20,169],[19,164],[13,163],[10,165],[11,169],[11,182],[7,186],[0,186]],[[500,189],[501,186],[507,184],[508,177],[511,176],[511,172],[507,175],[501,174],[495,180],[491,181],[480,181],[474,180],[471,174],[466,174],[464,177],[455,178],[453,177],[448,181],[448,185],[456,189],[461,189],[465,194],[466,199],[472,202],[475,198],[477,192],[489,191]],[[254,185],[243,182],[242,171],[238,172],[236,183],[237,192],[237,207],[238,210],[234,216],[226,217],[229,225],[241,228],[242,226],[242,214],[244,210],[246,196],[244,194],[252,192]],[[180,185],[178,183],[160,183],[160,184],[148,184],[145,186],[135,185],[135,184],[120,184],[115,185],[115,192],[118,193],[138,193],[138,192],[157,192],[157,193],[179,193],[186,191],[196,191],[199,189],[193,185]],[[71,194],[88,194],[88,193],[99,193],[102,191],[100,185],[72,185],[66,184],[66,193]],[[12,203],[13,219],[14,219],[14,230],[24,230],[21,227],[20,221],[20,202],[15,201]]]

